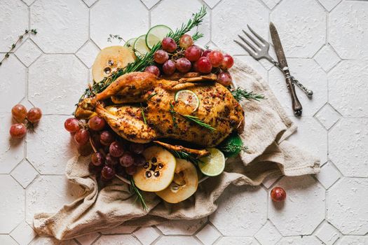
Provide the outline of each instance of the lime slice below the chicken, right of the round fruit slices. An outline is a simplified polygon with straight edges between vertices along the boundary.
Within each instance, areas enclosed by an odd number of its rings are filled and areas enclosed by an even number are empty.
[[[225,156],[217,148],[208,148],[210,151],[210,155],[207,157],[200,158],[200,162],[198,163],[198,167],[200,172],[207,176],[217,176],[224,172],[225,168]]]

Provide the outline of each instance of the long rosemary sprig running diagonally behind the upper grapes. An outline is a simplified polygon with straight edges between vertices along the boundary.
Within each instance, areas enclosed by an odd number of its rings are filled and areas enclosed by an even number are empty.
[[[198,25],[200,25],[200,23],[203,22],[203,18],[205,17],[205,15],[206,15],[206,8],[205,6],[202,6],[199,12],[193,14],[192,18],[185,25],[183,24],[180,29],[176,29],[176,31],[170,32],[168,36],[173,38],[175,42],[179,43],[179,38],[182,35],[186,34],[186,32],[193,29],[194,27],[198,27]],[[192,36],[193,41],[198,40],[198,38],[201,38],[202,36],[203,34],[200,34],[197,31]],[[146,55],[138,56],[137,59],[135,59],[135,62],[128,64],[123,69],[118,69],[114,73],[111,73],[111,76],[109,76],[108,78],[104,78],[104,80],[100,81],[99,83],[95,83],[91,88],[87,88],[85,92],[82,94],[80,101],[85,97],[92,97],[93,94],[102,92],[107,86],[109,86],[112,82],[114,82],[116,78],[125,73],[130,73],[132,71],[144,71],[144,69],[146,69],[146,66],[153,64],[154,53],[159,49],[161,49],[161,43],[157,43],[156,45],[154,45],[154,47],[149,52],[147,52]]]

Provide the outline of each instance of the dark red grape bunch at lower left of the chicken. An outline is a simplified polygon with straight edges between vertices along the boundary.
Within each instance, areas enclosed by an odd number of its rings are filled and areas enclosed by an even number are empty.
[[[65,129],[74,134],[74,141],[79,146],[81,155],[90,155],[84,148],[95,149],[91,155],[89,170],[102,181],[109,181],[115,174],[126,176],[137,171],[137,166],[144,165],[146,160],[142,155],[144,144],[123,141],[107,126],[103,118],[94,116],[84,123],[76,118],[68,118]],[[92,144],[92,146],[91,146]]]

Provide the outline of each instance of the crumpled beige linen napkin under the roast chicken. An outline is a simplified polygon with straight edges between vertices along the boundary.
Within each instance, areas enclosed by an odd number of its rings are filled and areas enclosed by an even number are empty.
[[[56,214],[36,214],[36,232],[71,239],[118,225],[153,225],[171,219],[203,218],[217,209],[216,200],[230,184],[256,186],[270,175],[318,173],[319,160],[285,141],[297,127],[287,118],[267,83],[238,59],[231,75],[237,86],[264,94],[267,99],[242,102],[245,131],[241,137],[249,150],[229,159],[223,174],[200,183],[195,195],[179,204],[168,204],[154,193],[144,193],[149,207],[144,211],[135,202],[128,185],[121,181],[114,180],[98,190],[95,176],[88,172],[90,159],[75,157],[69,160],[66,175],[69,181],[83,188],[84,194]]]

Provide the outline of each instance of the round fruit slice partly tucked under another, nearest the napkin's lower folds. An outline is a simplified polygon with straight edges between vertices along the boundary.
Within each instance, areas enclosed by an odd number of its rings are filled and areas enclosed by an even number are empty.
[[[165,190],[156,193],[158,197],[169,203],[178,203],[191,197],[198,188],[198,174],[196,167],[186,160],[177,159],[175,176],[172,183]]]

